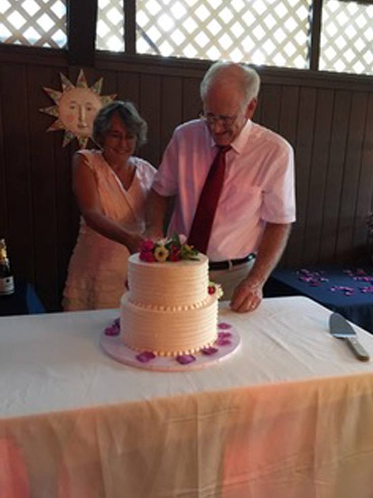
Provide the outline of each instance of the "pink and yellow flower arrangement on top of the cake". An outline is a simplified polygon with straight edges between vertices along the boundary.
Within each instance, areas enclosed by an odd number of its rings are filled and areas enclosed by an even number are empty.
[[[191,259],[198,261],[198,251],[193,246],[186,244],[185,235],[174,234],[154,242],[151,239],[144,240],[140,246],[140,259],[147,263],[164,261],[180,261]]]

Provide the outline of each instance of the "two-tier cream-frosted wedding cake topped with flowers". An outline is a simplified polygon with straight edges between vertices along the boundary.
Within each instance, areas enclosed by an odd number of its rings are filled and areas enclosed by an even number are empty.
[[[167,240],[147,241],[142,252],[128,258],[120,336],[136,351],[192,354],[217,338],[220,289],[209,286],[207,256],[181,244],[178,236],[174,245]]]

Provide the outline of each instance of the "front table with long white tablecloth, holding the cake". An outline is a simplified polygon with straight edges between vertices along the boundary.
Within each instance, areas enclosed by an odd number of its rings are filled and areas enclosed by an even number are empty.
[[[174,373],[100,351],[117,313],[0,319],[2,498],[371,498],[373,361],[330,336],[326,308],[221,303],[241,349]]]

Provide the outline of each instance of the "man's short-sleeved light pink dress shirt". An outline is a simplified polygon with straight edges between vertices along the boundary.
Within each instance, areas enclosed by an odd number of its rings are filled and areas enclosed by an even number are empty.
[[[212,261],[242,258],[255,252],[266,221],[295,220],[291,145],[280,135],[248,121],[231,146],[207,250]],[[190,121],[176,128],[153,183],[158,194],[176,196],[168,234],[189,234],[216,152],[203,121]]]

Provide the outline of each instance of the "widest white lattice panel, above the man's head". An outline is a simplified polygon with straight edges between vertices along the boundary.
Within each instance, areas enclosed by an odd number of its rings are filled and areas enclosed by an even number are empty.
[[[137,52],[306,68],[310,4],[138,0]]]

